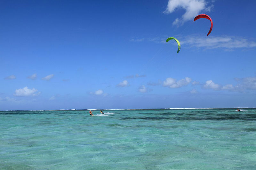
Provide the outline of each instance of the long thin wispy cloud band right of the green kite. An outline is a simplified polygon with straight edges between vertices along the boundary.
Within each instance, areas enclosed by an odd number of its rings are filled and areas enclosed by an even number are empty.
[[[196,41],[195,41],[196,40]],[[184,41],[180,42],[182,45],[188,45],[190,47],[197,48],[224,48],[224,49],[234,49],[234,48],[253,48],[256,47],[256,42],[248,40],[246,38],[235,37],[235,36],[210,36],[207,38],[188,36]]]

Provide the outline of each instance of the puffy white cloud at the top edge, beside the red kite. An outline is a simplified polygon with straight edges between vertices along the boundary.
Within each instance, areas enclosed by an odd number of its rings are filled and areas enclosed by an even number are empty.
[[[212,6],[207,6],[205,0],[169,0],[164,13],[172,13],[179,9],[184,9],[186,12],[181,18],[176,18],[172,25],[181,26],[184,22],[194,19],[202,11],[211,11]]]

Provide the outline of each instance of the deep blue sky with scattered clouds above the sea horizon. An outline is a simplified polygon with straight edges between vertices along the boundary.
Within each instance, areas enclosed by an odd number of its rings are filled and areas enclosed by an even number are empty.
[[[1,1],[0,110],[256,107],[255,5]]]

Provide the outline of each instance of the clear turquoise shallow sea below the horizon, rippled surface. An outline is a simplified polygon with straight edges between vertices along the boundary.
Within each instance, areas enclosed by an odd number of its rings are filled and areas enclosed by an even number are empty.
[[[0,112],[0,169],[255,169],[256,109]]]

